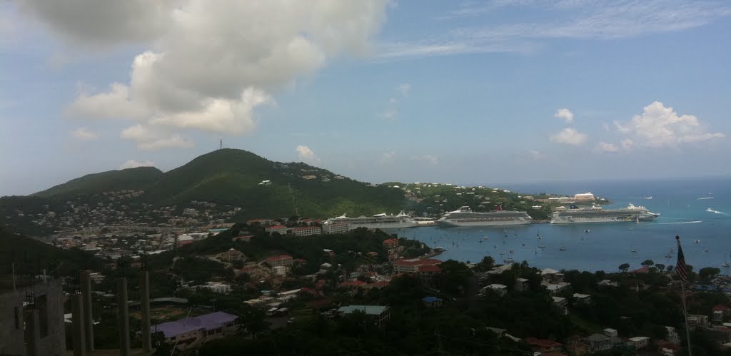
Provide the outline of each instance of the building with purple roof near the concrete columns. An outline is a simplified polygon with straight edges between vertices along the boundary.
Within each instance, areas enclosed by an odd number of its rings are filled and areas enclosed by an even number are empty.
[[[216,311],[199,317],[184,318],[175,322],[153,325],[153,333],[162,332],[165,341],[175,344],[178,349],[191,349],[205,341],[231,335],[238,329],[237,316]]]

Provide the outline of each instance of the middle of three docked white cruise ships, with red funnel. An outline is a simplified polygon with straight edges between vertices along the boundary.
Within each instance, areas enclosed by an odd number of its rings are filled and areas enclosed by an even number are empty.
[[[499,225],[520,225],[530,224],[533,219],[525,211],[498,211],[490,213],[477,213],[469,206],[463,206],[455,211],[450,211],[436,221],[444,226],[499,226]]]

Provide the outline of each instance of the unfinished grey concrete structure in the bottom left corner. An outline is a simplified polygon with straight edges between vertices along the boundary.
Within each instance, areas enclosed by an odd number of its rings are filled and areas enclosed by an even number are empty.
[[[28,280],[0,292],[0,355],[65,354],[60,280]]]

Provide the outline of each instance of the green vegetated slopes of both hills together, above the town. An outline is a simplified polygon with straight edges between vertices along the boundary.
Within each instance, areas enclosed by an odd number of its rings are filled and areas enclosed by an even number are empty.
[[[30,197],[3,197],[0,207],[10,213],[43,213],[43,205],[52,205],[58,211],[68,208],[63,207],[67,200],[94,205],[102,201],[102,193],[124,189],[144,190],[130,203],[185,207],[204,201],[240,207],[239,220],[398,213],[406,202],[401,189],[371,186],[304,163],[272,162],[248,151],[222,149],[167,173],[138,167],[84,175]]]

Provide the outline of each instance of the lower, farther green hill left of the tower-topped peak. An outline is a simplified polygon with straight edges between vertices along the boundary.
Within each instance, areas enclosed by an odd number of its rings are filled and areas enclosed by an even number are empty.
[[[162,175],[155,167],[137,167],[126,170],[84,175],[42,192],[31,194],[35,197],[64,199],[75,194],[99,194],[105,191],[122,189],[147,189]]]

